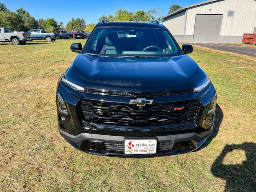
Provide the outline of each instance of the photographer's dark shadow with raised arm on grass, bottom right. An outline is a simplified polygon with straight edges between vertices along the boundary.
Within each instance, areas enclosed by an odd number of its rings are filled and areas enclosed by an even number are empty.
[[[223,163],[224,157],[233,150],[245,151],[246,160],[242,164]],[[245,142],[226,145],[212,164],[211,172],[214,176],[226,180],[225,192],[256,191],[256,144]]]

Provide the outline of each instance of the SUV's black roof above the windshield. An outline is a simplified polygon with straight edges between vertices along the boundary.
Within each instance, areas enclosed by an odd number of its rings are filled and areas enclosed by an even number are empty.
[[[162,24],[151,22],[100,22],[96,27],[152,27],[165,28]]]

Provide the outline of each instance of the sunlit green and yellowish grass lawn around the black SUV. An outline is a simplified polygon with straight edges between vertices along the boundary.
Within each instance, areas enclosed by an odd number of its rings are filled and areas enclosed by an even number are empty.
[[[89,155],[59,135],[55,90],[72,42],[0,44],[0,191],[256,191],[256,58],[196,47],[218,94],[201,150],[154,158]]]

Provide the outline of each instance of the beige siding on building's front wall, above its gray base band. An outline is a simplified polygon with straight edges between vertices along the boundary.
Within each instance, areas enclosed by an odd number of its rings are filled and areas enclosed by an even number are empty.
[[[234,17],[228,17],[229,10]],[[220,36],[243,36],[256,26],[256,0],[223,0],[188,9],[185,35],[194,34],[196,14],[223,14]]]

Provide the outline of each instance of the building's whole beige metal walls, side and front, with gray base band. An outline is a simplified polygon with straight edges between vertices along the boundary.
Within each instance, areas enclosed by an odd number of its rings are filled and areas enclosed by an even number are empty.
[[[228,11],[234,11],[234,17],[228,17]],[[196,14],[223,14],[219,42],[241,42],[243,34],[256,27],[256,0],[219,0],[166,18],[164,25],[177,41],[192,42]]]

